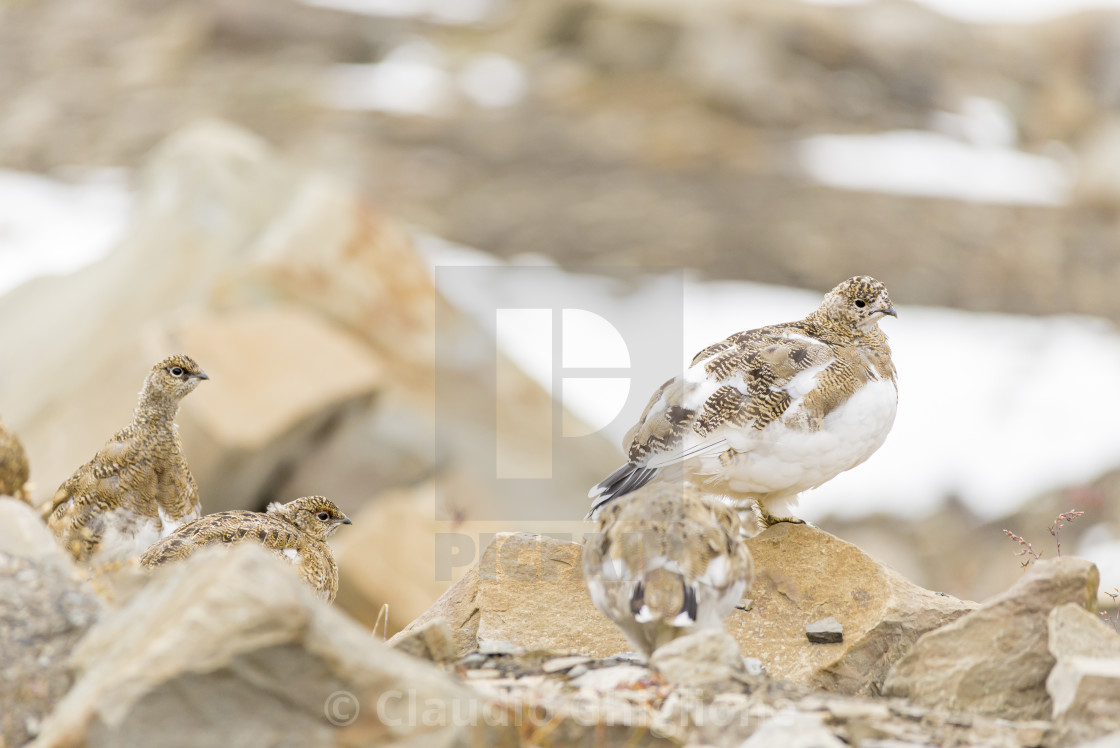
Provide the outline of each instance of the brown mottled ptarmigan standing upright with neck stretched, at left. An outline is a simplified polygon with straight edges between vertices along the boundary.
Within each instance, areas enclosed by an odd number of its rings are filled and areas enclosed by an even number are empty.
[[[206,373],[188,356],[152,366],[132,422],[67,478],[47,504],[47,524],[91,565],[130,559],[197,520],[198,487],[175,426],[179,401]]]

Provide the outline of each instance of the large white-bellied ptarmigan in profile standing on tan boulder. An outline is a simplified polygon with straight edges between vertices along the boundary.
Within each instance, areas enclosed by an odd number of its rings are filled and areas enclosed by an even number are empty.
[[[788,516],[797,494],[866,460],[894,423],[887,315],[897,317],[886,287],[858,275],[800,321],[698,353],[651,398],[624,440],[627,464],[589,492],[588,516],[659,478],[753,503],[763,526],[799,522]]]

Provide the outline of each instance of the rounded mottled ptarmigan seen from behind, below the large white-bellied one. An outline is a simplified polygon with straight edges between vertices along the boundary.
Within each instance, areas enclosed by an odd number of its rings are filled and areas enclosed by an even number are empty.
[[[659,481],[619,498],[584,543],[591,601],[646,656],[720,628],[752,571],[739,515],[689,484]]]

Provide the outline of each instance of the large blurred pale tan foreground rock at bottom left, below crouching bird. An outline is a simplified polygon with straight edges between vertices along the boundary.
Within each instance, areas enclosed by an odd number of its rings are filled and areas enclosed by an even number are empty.
[[[74,653],[45,746],[516,745],[470,691],[393,652],[245,545],[167,567]],[[410,703],[413,713],[410,716]]]

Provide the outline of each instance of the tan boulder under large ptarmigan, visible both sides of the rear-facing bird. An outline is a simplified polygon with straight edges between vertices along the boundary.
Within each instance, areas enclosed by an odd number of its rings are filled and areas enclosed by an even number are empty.
[[[976,604],[924,590],[858,548],[809,525],[780,524],[749,541],[758,570],[749,609],[725,621],[743,654],[774,676],[842,693],[876,693],[920,636]],[[448,621],[458,652],[487,642],[597,657],[629,649],[595,607],[580,574],[580,545],[500,534],[482,560],[405,632]],[[811,644],[805,624],[834,616],[840,644]]]

